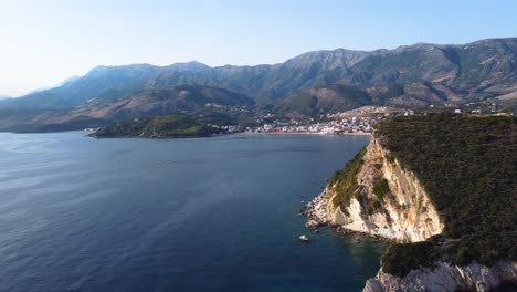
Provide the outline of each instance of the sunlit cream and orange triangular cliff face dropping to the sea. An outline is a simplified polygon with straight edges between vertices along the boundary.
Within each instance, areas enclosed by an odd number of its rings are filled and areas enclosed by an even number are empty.
[[[381,179],[389,191],[379,198],[373,189]],[[336,199],[337,184],[328,185],[312,202],[313,217],[399,242],[423,241],[442,232],[444,225],[415,175],[404,170],[377,138],[366,148],[357,184],[356,195],[345,204]]]

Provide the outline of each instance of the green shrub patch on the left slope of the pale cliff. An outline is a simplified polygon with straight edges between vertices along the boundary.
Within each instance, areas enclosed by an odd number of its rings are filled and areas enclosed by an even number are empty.
[[[362,166],[362,157],[366,154],[366,147],[363,147],[354,159],[348,161],[341,170],[338,170],[328,180],[330,186],[336,185],[335,190],[337,192],[333,202],[335,206],[347,207],[350,204],[350,199],[355,196],[360,198],[359,185],[357,184],[357,174]],[[344,208],[341,208],[344,209]]]

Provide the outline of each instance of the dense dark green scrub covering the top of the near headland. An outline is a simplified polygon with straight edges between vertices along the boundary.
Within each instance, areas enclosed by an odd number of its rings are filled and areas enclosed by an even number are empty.
[[[445,222],[445,243],[394,244],[382,258],[386,272],[404,275],[436,260],[460,265],[517,260],[516,121],[395,117],[380,123],[376,135],[416,174]]]

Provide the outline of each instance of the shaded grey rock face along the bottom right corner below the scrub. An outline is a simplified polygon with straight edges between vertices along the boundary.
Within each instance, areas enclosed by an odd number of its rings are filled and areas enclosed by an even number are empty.
[[[473,262],[467,267],[456,267],[445,262],[434,269],[411,271],[398,278],[380,271],[367,281],[363,292],[413,292],[413,291],[490,291],[502,283],[517,283],[517,263],[499,261],[493,267]]]

